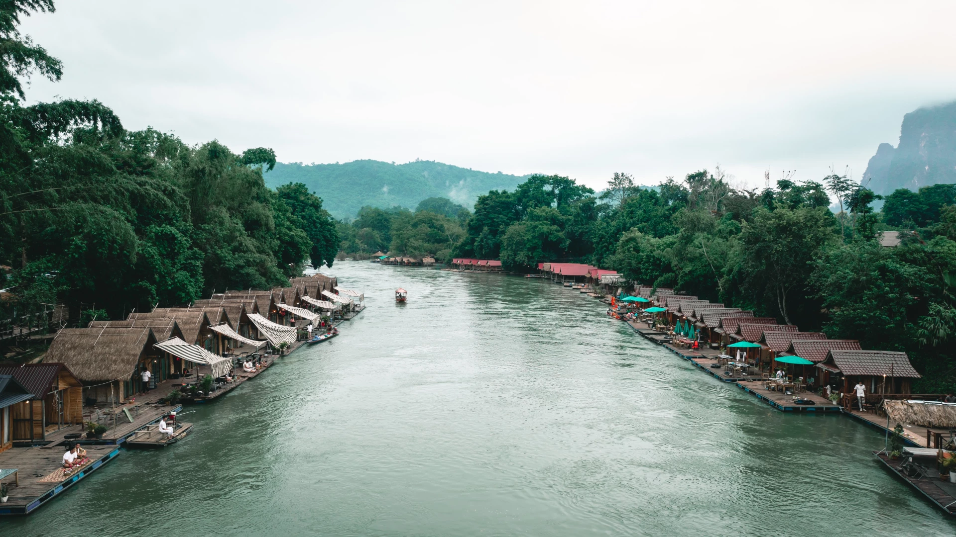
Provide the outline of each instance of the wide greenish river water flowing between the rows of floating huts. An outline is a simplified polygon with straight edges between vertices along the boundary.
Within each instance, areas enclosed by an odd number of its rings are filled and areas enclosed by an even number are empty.
[[[368,305],[341,335],[0,535],[956,534],[875,462],[878,432],[774,411],[577,291],[329,271]]]

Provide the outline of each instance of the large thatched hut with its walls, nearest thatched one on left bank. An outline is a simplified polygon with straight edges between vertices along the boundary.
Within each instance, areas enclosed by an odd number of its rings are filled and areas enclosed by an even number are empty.
[[[73,372],[84,400],[120,403],[143,390],[140,374],[161,357],[155,343],[146,327],[67,328],[56,333],[45,359]]]

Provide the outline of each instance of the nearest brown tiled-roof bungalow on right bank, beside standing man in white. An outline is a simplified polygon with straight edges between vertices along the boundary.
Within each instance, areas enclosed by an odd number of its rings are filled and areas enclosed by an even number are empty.
[[[834,349],[816,367],[824,374],[824,383],[836,384],[844,394],[851,394],[858,382],[875,396],[910,394],[913,379],[921,377],[906,353],[894,351]],[[870,397],[867,402],[872,402]]]

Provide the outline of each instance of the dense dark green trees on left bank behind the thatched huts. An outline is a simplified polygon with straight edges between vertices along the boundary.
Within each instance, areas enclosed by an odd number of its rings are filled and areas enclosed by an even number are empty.
[[[5,318],[63,304],[111,318],[212,290],[268,289],[335,259],[335,221],[303,184],[266,187],[271,149],[127,131],[98,100],[25,105],[60,61],[18,31],[52,0],[0,5],[0,264]]]

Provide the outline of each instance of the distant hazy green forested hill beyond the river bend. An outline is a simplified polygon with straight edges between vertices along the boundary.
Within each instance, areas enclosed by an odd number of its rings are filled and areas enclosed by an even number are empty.
[[[382,161],[352,161],[342,164],[275,164],[266,184],[305,183],[323,200],[336,218],[355,218],[359,208],[394,205],[415,208],[426,198],[448,198],[471,207],[479,194],[513,189],[527,176],[489,173],[436,161],[394,164]]]

